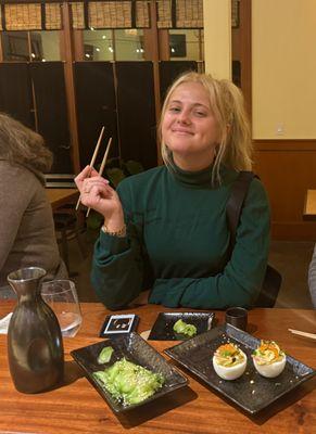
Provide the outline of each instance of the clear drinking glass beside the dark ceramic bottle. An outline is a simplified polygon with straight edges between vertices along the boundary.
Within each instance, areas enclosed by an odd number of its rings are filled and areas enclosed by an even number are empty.
[[[75,283],[72,280],[52,280],[41,285],[42,299],[54,311],[65,337],[74,337],[83,317]]]

